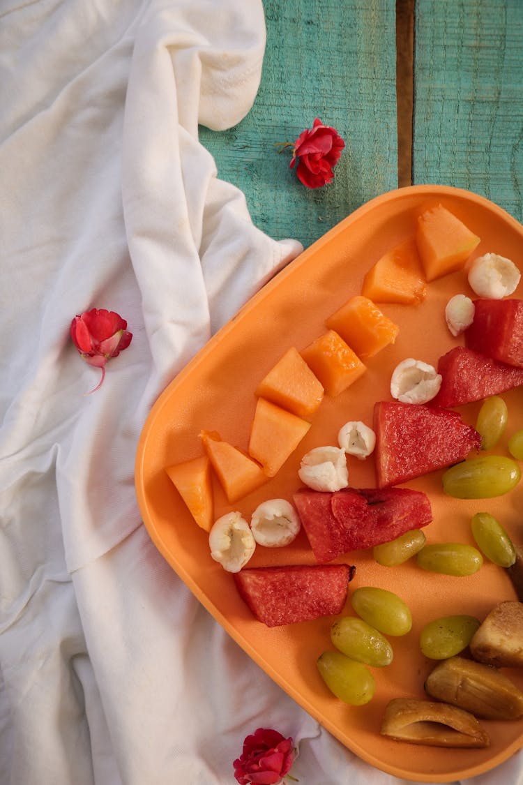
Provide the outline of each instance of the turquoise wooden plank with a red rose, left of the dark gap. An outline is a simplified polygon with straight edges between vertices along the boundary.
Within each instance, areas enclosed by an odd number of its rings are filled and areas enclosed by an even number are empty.
[[[362,203],[398,184],[395,19],[391,0],[264,0],[267,49],[249,115],[200,129],[218,177],[245,192],[252,221],[309,246]],[[318,116],[346,142],[336,177],[308,189],[289,170],[294,142]]]

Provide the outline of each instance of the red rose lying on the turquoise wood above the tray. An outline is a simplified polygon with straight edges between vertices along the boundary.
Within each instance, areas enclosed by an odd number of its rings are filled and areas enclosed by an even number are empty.
[[[340,160],[345,142],[331,126],[324,126],[318,117],[309,130],[306,128],[294,143],[291,169],[307,188],[321,188],[334,179],[333,167]]]

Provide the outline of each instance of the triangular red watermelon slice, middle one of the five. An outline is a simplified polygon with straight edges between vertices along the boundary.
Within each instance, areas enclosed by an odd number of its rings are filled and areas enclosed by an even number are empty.
[[[388,487],[451,466],[479,451],[481,436],[461,414],[423,403],[374,406],[376,482]]]

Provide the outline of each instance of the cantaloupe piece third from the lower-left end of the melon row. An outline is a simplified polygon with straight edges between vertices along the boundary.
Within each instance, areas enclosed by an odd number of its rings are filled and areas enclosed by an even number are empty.
[[[251,425],[249,455],[261,463],[267,476],[274,477],[310,427],[307,420],[270,400],[258,398]]]

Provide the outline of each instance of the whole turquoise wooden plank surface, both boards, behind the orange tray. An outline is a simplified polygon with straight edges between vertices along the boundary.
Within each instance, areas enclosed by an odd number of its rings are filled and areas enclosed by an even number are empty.
[[[227,132],[201,129],[201,140],[219,177],[245,192],[254,223],[307,247],[398,185],[396,2],[263,5],[267,50],[252,110]],[[412,5],[412,182],[467,188],[523,221],[523,0],[398,0]],[[316,116],[347,148],[334,182],[309,190],[274,144]]]

